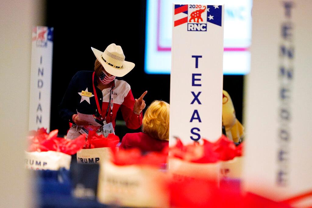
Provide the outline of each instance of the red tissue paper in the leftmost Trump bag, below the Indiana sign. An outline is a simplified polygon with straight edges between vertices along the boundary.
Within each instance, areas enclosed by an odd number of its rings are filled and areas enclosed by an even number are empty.
[[[44,128],[40,128],[37,131],[30,131],[28,136],[29,147],[27,151],[46,152],[51,150],[73,155],[85,145],[85,135],[71,140],[57,137],[57,133],[58,130],[56,129],[48,134]]]

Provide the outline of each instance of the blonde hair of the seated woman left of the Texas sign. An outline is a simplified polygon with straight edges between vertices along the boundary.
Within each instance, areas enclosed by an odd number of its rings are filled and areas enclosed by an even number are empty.
[[[160,140],[169,140],[169,104],[154,100],[146,109],[142,131]]]

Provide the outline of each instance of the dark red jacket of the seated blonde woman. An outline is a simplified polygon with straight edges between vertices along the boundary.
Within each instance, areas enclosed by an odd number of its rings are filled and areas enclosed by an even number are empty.
[[[139,148],[142,151],[154,151],[161,152],[163,148],[168,147],[169,141],[160,140],[150,137],[148,134],[139,133],[127,133],[122,138],[119,148]]]

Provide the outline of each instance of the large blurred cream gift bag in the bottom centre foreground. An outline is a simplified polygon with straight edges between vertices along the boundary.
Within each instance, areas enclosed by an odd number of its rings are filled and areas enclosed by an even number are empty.
[[[167,208],[167,182],[167,174],[154,167],[104,161],[100,164],[97,198],[106,205]]]

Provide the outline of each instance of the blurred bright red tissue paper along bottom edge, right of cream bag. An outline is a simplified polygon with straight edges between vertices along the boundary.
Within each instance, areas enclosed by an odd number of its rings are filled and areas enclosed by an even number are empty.
[[[170,185],[171,207],[215,208],[290,208],[289,203],[272,201],[262,196],[241,193],[239,189],[218,187],[214,181],[196,179],[175,181]],[[181,197],[183,196],[183,197]]]

